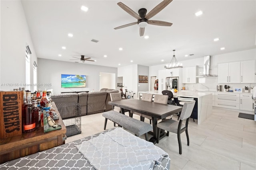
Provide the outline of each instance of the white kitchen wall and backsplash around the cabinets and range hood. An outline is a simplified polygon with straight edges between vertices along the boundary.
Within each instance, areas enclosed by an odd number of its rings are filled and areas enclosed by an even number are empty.
[[[255,60],[256,59],[256,49],[250,49],[245,51],[238,51],[234,53],[227,53],[222,55],[215,55],[211,57],[211,74],[218,74],[218,63],[223,62],[232,62],[232,61],[242,61],[242,60]],[[181,61],[183,67],[188,66],[198,66],[198,74],[202,74],[204,57],[198,59],[191,59],[186,61]],[[157,76],[158,70],[164,69],[164,65],[160,64],[156,66],[149,67],[149,76]],[[197,84],[183,84],[186,90],[213,90],[216,91],[216,85],[218,84],[218,77],[202,77],[198,79],[199,83]],[[244,88],[244,86],[254,87],[256,84],[227,84],[232,88]]]

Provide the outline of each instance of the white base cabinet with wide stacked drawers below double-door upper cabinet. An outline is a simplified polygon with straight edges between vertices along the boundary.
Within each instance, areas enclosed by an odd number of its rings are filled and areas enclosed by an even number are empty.
[[[226,92],[215,93],[215,106],[225,107],[230,109],[239,109],[240,95]]]

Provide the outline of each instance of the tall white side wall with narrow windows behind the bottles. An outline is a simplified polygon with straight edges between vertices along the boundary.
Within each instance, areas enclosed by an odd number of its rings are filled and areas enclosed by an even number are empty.
[[[34,61],[37,63],[37,57],[21,2],[1,0],[0,4],[0,90],[13,90],[24,87],[23,84],[26,83],[26,45],[29,45],[32,52],[30,70],[33,70]],[[30,75],[30,82],[33,82],[33,73]],[[17,86],[10,85],[16,83]]]

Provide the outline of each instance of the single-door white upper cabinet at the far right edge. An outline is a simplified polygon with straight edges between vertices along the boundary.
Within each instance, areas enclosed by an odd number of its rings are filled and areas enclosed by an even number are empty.
[[[241,83],[255,83],[255,60],[241,61]]]

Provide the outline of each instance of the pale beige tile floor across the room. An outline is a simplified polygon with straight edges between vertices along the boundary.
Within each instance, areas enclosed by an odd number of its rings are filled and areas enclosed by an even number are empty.
[[[134,118],[139,119],[137,115]],[[174,115],[173,119],[177,120],[177,117]],[[113,123],[108,121],[106,128],[112,127]],[[103,128],[102,113],[83,116],[82,133],[68,137],[66,143],[104,131]],[[255,121],[239,118],[235,111],[213,108],[211,117],[202,125],[190,119],[188,133],[190,146],[187,146],[186,134],[181,135],[182,155],[176,134],[170,133],[156,144],[169,154],[171,170],[256,169]]]

